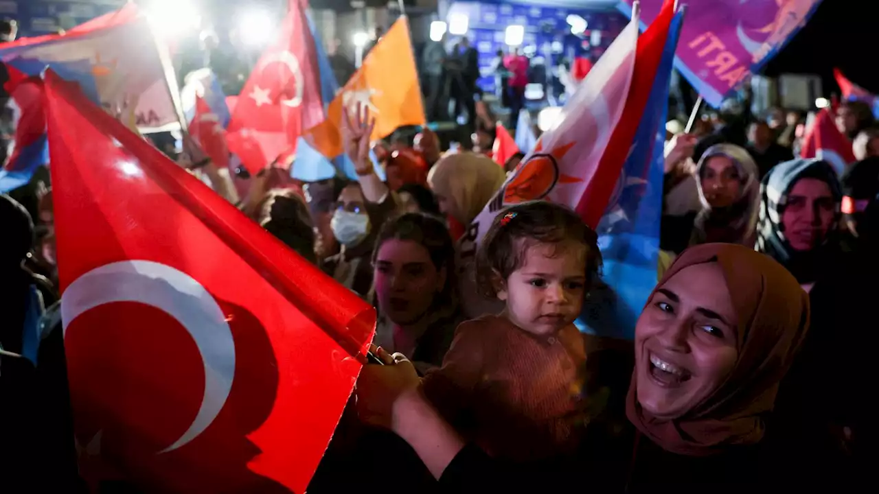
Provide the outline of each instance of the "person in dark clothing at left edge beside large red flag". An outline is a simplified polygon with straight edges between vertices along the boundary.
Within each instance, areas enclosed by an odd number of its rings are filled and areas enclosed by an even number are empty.
[[[43,297],[22,263],[30,214],[0,194],[0,479],[4,492],[75,492],[78,485],[63,335],[41,331]],[[18,355],[18,356],[14,356]]]

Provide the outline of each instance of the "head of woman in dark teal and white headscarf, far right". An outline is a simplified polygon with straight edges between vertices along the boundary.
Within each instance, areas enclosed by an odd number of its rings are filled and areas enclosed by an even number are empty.
[[[839,257],[841,201],[842,188],[830,163],[796,159],[778,164],[760,185],[757,250],[810,290]]]

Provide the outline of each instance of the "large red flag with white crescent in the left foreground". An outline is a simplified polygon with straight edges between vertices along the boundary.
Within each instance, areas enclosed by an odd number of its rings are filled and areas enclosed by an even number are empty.
[[[81,472],[304,491],[374,310],[54,73],[45,89]]]

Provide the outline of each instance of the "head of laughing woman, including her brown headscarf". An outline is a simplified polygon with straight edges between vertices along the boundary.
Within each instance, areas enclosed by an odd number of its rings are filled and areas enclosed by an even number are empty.
[[[629,420],[675,454],[757,444],[808,321],[807,295],[772,259],[724,243],[685,251],[636,324]]]

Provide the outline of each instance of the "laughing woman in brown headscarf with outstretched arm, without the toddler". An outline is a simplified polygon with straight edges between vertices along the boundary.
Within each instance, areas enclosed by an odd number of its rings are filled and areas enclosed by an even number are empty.
[[[510,464],[465,445],[420,394],[408,360],[381,349],[385,366],[360,374],[360,416],[409,442],[444,491],[763,492],[754,489],[808,480],[774,469],[764,437],[809,314],[807,295],[773,259],[707,243],[679,256],[638,319],[622,398],[631,426],[614,433],[591,422],[576,457]]]

